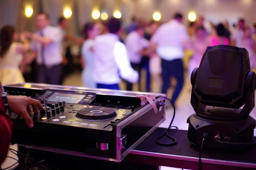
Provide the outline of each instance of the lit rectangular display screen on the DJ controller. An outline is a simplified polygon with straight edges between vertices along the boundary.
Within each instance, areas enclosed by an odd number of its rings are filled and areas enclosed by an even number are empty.
[[[59,93],[55,92],[48,98],[50,102],[60,102],[65,101],[66,103],[74,103],[77,104],[83,99],[85,95],[81,94],[68,94],[68,93]]]

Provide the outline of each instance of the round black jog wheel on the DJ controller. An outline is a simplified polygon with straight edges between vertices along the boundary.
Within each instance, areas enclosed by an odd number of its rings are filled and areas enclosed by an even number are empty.
[[[108,120],[117,116],[111,108],[93,107],[84,108],[76,113],[76,117],[83,120]]]

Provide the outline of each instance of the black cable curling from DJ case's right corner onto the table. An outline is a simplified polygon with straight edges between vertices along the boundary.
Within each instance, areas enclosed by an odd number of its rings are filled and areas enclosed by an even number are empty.
[[[159,144],[159,145],[162,145],[162,146],[172,146],[172,145],[174,145],[174,144],[177,144],[177,140],[176,140],[174,137],[170,136],[170,135],[168,134],[168,132],[169,132],[169,130],[170,130],[172,127],[175,127],[176,129],[178,129],[177,126],[172,126],[172,123],[173,123],[174,118],[175,118],[175,106],[174,106],[172,100],[168,99],[167,97],[163,97],[163,96],[160,96],[160,97],[165,98],[165,99],[167,99],[167,100],[169,100],[169,101],[171,102],[171,104],[172,104],[172,106],[173,106],[173,116],[172,116],[172,121],[171,121],[169,127],[167,128],[167,130],[166,130],[162,135],[158,136],[158,137],[155,139],[155,142],[156,142],[157,144]],[[165,135],[166,135],[169,139],[172,139],[174,142],[172,142],[172,143],[161,143],[161,142],[158,142],[158,139],[162,138],[162,137],[165,136]]]

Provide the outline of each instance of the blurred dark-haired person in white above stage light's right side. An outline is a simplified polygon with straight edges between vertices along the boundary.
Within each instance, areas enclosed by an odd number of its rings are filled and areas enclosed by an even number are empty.
[[[244,19],[240,18],[238,21],[238,28],[233,32],[231,36],[232,45],[237,46],[239,48],[242,47],[242,38],[244,36],[244,27],[245,21]]]

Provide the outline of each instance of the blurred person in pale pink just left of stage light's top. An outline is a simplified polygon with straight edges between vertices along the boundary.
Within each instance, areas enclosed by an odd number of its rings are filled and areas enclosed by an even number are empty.
[[[198,68],[201,62],[201,59],[209,46],[209,37],[207,31],[203,26],[196,28],[195,35],[191,39],[191,50],[193,55],[189,60],[188,65],[188,79],[190,81],[190,76],[194,68]]]

